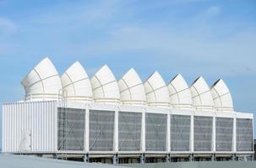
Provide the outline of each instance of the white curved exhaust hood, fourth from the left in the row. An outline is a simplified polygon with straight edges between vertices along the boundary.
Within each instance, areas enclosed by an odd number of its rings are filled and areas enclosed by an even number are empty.
[[[146,102],[144,85],[132,68],[118,81],[120,99],[123,104],[144,105]]]

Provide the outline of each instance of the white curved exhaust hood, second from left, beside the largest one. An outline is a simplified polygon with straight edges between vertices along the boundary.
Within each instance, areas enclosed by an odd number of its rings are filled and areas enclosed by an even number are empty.
[[[77,61],[63,73],[63,97],[78,102],[92,102],[90,79]]]

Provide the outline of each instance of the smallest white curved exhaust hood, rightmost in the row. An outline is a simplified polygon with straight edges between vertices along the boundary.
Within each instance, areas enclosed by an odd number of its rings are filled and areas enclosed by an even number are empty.
[[[228,87],[226,87],[226,83],[222,79],[215,81],[211,87],[211,93],[214,99],[215,110],[225,112],[233,111],[231,93]]]

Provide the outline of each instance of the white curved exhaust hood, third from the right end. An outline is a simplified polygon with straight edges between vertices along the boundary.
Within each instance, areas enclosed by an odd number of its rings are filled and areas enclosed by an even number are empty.
[[[193,102],[188,83],[182,75],[175,76],[168,85],[172,108],[192,109]]]

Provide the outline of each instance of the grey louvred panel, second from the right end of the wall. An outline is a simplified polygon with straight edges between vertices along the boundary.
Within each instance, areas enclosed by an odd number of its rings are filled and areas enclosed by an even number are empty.
[[[216,151],[231,151],[233,118],[216,118]]]

